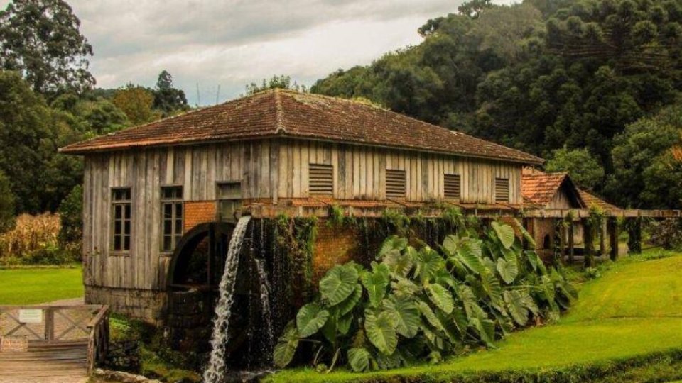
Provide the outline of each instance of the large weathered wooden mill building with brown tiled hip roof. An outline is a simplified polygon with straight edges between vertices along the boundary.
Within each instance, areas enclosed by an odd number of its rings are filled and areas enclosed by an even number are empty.
[[[86,301],[152,321],[163,318],[176,246],[202,225],[325,216],[332,205],[356,216],[437,204],[520,216],[522,170],[543,162],[370,104],[281,89],[62,152],[85,157]],[[584,208],[568,186],[548,202]]]

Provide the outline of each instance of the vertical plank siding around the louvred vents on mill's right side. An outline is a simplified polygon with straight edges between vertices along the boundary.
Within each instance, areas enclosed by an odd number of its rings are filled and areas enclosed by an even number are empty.
[[[308,164],[334,167],[337,199],[386,199],[386,169],[404,170],[408,201],[443,199],[443,174],[460,174],[460,201],[494,203],[495,178],[509,179],[509,202],[521,204],[521,165],[360,145],[286,140],[279,146],[278,197],[305,198]]]

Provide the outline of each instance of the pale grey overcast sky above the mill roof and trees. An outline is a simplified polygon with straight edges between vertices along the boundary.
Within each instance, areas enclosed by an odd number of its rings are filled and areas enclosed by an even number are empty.
[[[462,0],[67,2],[93,46],[90,70],[98,87],[151,87],[166,69],[190,104],[206,105],[215,104],[219,86],[224,101],[273,74],[310,85],[338,68],[418,44],[417,28],[455,12]]]

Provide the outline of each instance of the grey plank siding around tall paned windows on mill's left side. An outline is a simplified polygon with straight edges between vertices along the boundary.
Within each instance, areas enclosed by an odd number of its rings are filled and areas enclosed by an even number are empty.
[[[161,253],[161,187],[182,185],[185,201],[210,201],[216,199],[217,182],[241,181],[244,198],[271,197],[277,171],[272,146],[271,140],[261,140],[87,156],[85,284],[165,288],[170,257]],[[112,187],[131,188],[129,252],[111,250]]]

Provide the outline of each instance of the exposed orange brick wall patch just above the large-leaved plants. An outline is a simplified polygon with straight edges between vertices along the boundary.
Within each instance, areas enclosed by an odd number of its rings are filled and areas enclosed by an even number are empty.
[[[317,284],[327,270],[353,259],[358,251],[358,233],[352,228],[328,226],[318,221],[318,237],[313,254],[313,283]]]

